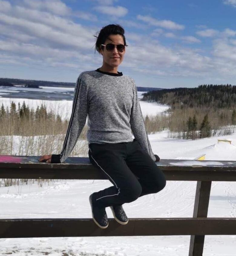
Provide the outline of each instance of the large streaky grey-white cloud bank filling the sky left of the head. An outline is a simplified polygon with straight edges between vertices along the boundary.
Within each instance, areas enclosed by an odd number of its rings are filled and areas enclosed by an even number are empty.
[[[36,70],[47,66],[80,67],[80,70],[96,66],[99,57],[94,56],[93,35],[97,28],[84,27],[45,8],[43,11],[33,8],[41,2],[35,1],[28,8],[5,5],[10,10],[5,14],[0,12],[0,63],[22,63]]]

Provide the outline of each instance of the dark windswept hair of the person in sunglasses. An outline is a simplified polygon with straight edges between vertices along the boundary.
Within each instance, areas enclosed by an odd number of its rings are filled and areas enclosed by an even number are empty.
[[[96,52],[96,50],[99,52],[100,45],[105,43],[105,41],[109,37],[109,35],[122,35],[123,40],[124,40],[124,45],[126,45],[124,33],[125,33],[125,30],[119,24],[110,24],[110,25],[103,27],[100,30],[98,36],[94,35],[97,38],[94,53]],[[103,45],[101,46],[101,48],[103,49]]]

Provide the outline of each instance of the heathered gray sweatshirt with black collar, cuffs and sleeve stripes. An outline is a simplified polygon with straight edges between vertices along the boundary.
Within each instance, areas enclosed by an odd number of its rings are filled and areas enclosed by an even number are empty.
[[[132,132],[141,148],[153,161],[149,138],[144,126],[137,88],[133,78],[100,70],[82,72],[76,82],[73,108],[64,145],[51,163],[62,163],[73,150],[88,116],[88,143],[133,141]]]

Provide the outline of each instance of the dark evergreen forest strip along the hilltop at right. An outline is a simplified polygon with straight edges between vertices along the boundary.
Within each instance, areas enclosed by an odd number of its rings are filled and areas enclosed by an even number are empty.
[[[236,105],[235,85],[199,85],[197,88],[174,88],[150,91],[146,101],[156,101],[175,108],[231,108]]]

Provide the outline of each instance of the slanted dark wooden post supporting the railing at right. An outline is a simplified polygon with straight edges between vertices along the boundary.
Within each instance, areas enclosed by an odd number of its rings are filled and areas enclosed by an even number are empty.
[[[211,181],[198,181],[196,187],[193,218],[207,217]],[[191,235],[188,256],[202,256],[205,235]]]

